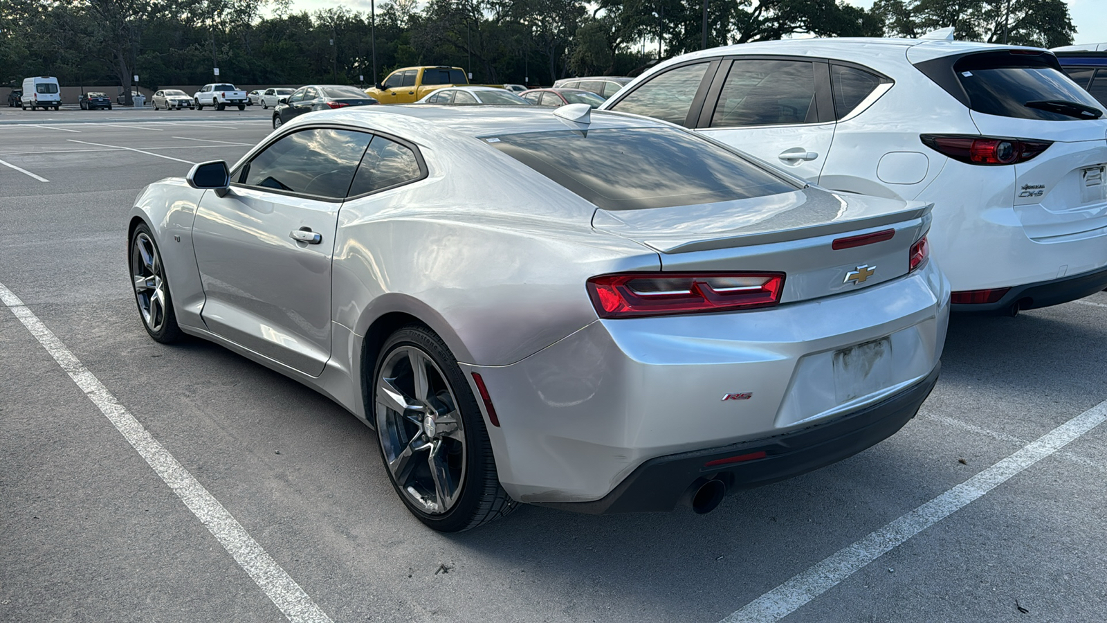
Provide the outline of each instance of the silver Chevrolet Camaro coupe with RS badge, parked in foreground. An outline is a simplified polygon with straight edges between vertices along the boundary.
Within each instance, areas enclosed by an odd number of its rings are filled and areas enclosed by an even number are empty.
[[[151,184],[128,265],[154,339],[329,396],[458,531],[707,512],[899,430],[949,317],[930,207],[587,104],[365,106]]]

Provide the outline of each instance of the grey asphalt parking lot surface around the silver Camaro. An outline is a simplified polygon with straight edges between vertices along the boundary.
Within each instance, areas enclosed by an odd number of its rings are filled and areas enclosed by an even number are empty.
[[[954,318],[903,430],[713,513],[525,505],[441,534],[354,416],[143,329],[131,203],[269,114],[0,109],[0,621],[1105,620],[1107,293]]]

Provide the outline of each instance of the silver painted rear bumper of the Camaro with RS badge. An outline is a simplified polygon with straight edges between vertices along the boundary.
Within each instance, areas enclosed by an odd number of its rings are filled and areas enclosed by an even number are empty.
[[[462,366],[498,413],[488,436],[508,494],[591,502],[658,457],[806,430],[915,387],[941,357],[949,296],[929,262],[773,309],[597,320],[521,361]],[[842,349],[875,341],[889,357],[875,376],[836,376]]]

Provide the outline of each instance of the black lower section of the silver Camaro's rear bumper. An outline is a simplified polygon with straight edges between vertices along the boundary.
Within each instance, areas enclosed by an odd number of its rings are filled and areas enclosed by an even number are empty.
[[[700,479],[720,479],[727,491],[785,480],[851,457],[891,437],[919,412],[938,382],[941,364],[919,384],[876,405],[808,428],[692,452],[650,459],[603,498],[591,502],[538,505],[589,514],[665,512]],[[765,452],[765,457],[732,466],[711,461]]]

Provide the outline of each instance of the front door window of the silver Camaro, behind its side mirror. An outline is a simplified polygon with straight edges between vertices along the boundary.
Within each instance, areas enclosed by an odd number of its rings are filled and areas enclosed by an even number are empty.
[[[327,198],[343,198],[371,134],[312,129],[288,134],[256,155],[239,183]]]

